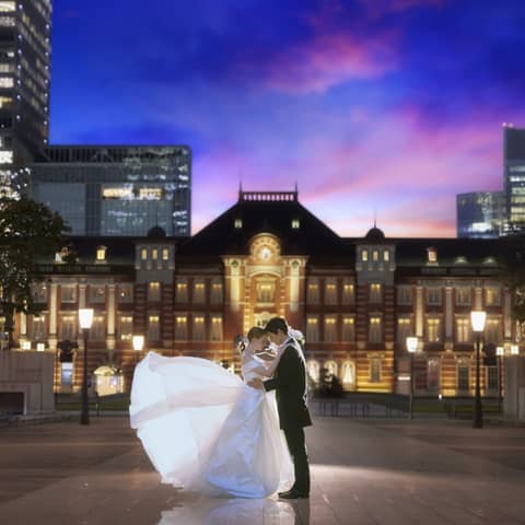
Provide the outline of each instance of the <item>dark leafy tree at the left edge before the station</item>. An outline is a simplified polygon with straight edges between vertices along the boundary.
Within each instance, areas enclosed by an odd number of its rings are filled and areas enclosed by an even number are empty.
[[[43,203],[25,197],[0,198],[0,308],[8,348],[12,346],[14,314],[37,313],[31,284],[39,280],[38,259],[52,256],[68,231],[62,218]]]

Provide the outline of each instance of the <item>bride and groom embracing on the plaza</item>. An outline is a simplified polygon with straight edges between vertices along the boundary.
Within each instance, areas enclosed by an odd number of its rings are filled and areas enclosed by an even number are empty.
[[[252,328],[238,345],[243,380],[206,359],[148,353],[130,418],[163,482],[215,497],[308,498],[298,334],[280,317]]]

